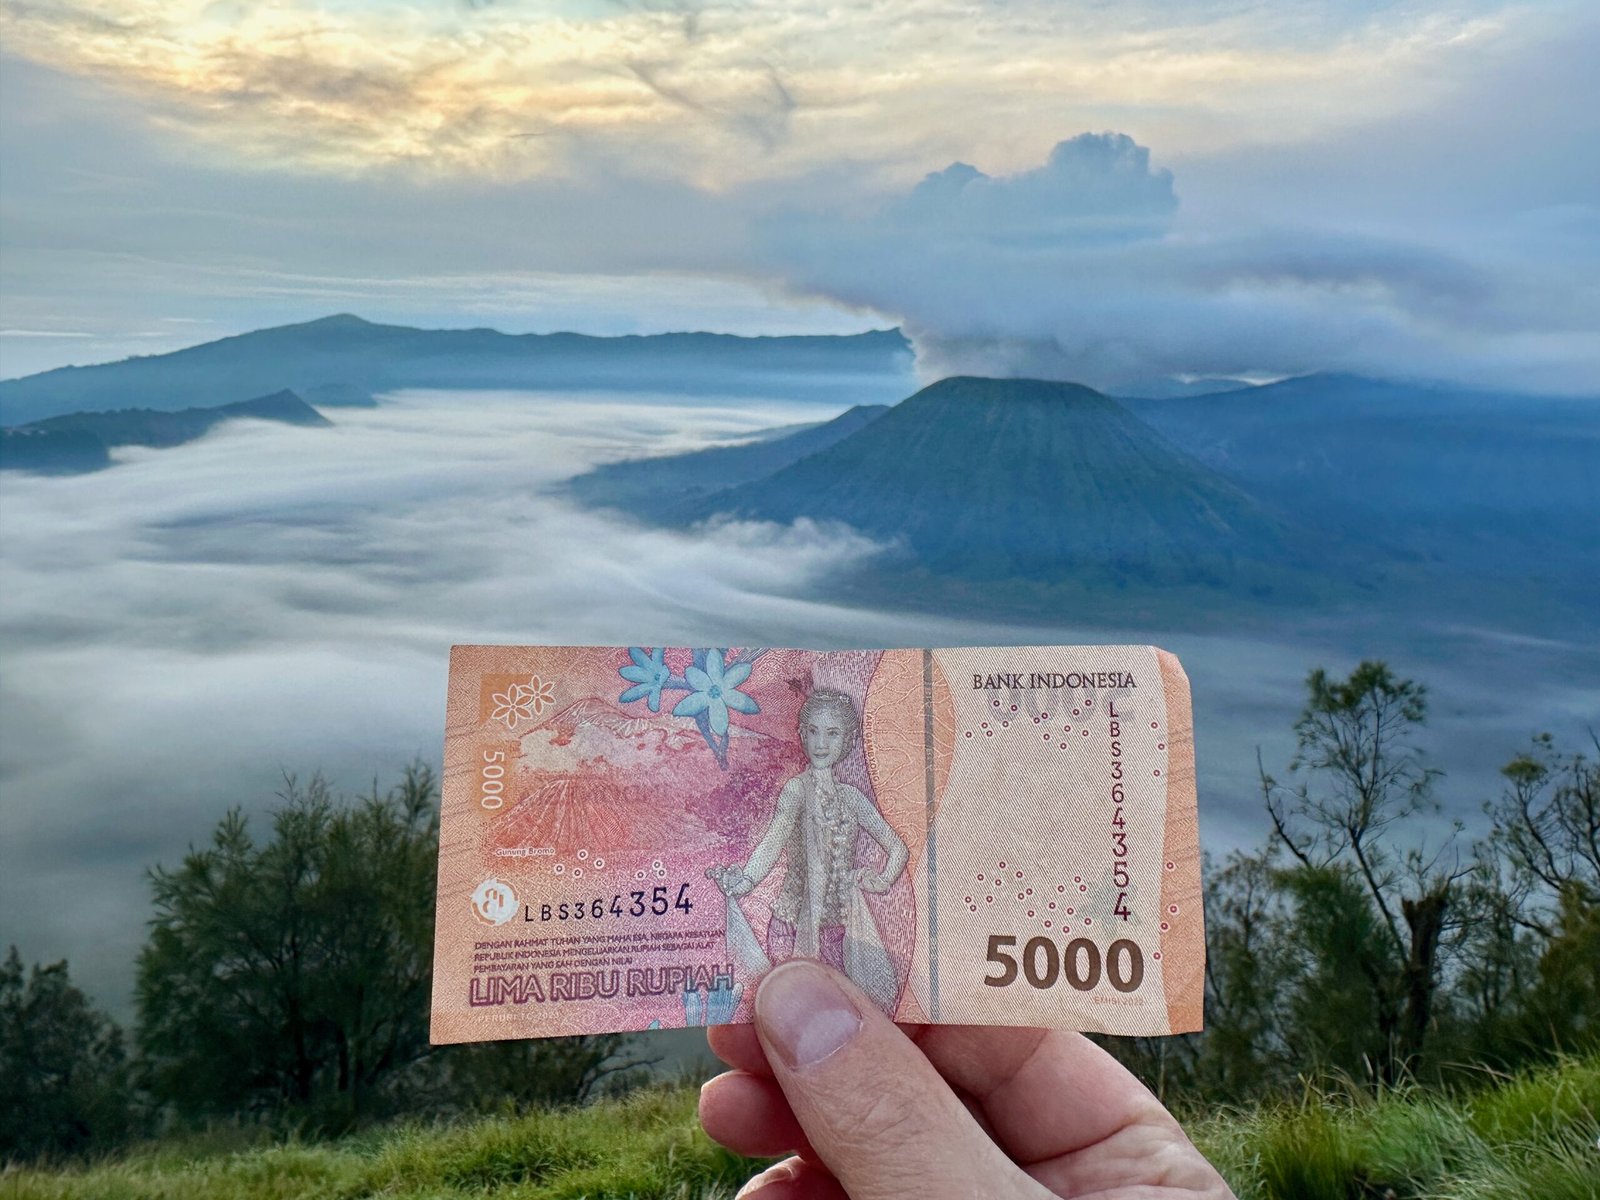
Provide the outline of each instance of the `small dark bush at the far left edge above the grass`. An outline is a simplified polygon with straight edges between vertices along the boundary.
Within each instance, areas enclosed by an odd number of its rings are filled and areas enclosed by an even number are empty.
[[[0,1162],[78,1154],[133,1128],[122,1030],[72,986],[66,962],[0,965]]]

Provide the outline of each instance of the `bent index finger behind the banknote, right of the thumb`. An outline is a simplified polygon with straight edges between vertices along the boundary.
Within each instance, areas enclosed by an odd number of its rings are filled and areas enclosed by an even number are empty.
[[[917,1045],[982,1106],[995,1138],[1021,1163],[1072,1154],[1131,1125],[1178,1128],[1139,1080],[1082,1034],[930,1026]]]

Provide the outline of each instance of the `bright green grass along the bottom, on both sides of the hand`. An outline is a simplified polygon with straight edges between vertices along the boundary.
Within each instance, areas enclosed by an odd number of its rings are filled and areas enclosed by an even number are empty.
[[[1600,1200],[1600,1056],[1475,1091],[1299,1104],[1189,1122],[1240,1200]],[[70,1170],[16,1168],[18,1200],[717,1200],[757,1163],[714,1146],[694,1090],[333,1142],[170,1139]]]

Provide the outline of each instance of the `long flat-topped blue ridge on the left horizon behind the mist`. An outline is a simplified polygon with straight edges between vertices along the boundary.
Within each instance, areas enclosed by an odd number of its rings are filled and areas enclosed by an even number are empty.
[[[139,405],[163,411],[293,389],[317,403],[371,403],[398,387],[646,389],[864,400],[904,395],[898,330],[843,338],[414,330],[341,314],[99,366],[0,381],[0,424]]]

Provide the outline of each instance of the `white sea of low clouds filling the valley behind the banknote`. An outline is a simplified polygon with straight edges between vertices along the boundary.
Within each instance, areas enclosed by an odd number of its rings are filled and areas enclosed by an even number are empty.
[[[838,408],[843,408],[842,403]],[[402,394],[331,429],[237,422],[109,470],[0,477],[0,944],[67,957],[126,1014],[147,867],[176,864],[285,773],[344,790],[438,762],[459,642],[890,646],[1158,642],[1194,680],[1203,832],[1262,834],[1254,749],[1282,765],[1309,667],[1386,656],[1435,688],[1430,747],[1462,814],[1539,728],[1600,712],[1590,646],[1400,634],[1373,614],[1232,635],[870,611],[829,581],[843,528],[662,531],[574,507],[586,466],[749,437],[835,408],[750,398]],[[1509,680],[1536,678],[1538,686]],[[1518,690],[1520,688],[1520,690]]]

